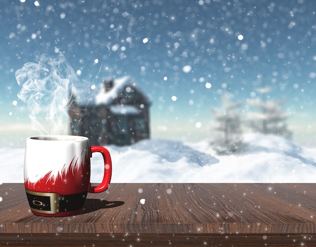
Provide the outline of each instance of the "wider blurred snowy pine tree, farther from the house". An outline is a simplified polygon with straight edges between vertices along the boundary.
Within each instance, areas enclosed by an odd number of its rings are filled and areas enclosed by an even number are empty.
[[[254,132],[291,138],[292,133],[288,130],[285,122],[288,118],[288,114],[281,108],[285,100],[267,100],[267,93],[270,92],[270,90],[270,87],[258,88],[256,91],[261,93],[262,98],[248,100],[250,106],[261,109],[258,112],[248,113],[248,125]]]

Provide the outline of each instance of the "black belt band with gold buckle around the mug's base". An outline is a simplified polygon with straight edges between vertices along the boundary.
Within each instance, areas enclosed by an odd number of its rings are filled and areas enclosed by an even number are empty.
[[[32,211],[43,214],[57,214],[83,207],[88,192],[61,196],[57,193],[34,192],[26,190]]]

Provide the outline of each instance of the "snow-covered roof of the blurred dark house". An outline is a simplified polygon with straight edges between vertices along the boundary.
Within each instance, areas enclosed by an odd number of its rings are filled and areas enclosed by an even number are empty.
[[[113,86],[109,91],[105,91],[104,84],[100,83],[91,88],[82,85],[79,87],[73,87],[72,93],[79,105],[111,105],[127,87],[131,87],[136,89],[138,92],[142,92],[129,76],[124,76],[113,80]],[[150,99],[144,94],[143,97],[146,101],[145,103],[149,104]]]

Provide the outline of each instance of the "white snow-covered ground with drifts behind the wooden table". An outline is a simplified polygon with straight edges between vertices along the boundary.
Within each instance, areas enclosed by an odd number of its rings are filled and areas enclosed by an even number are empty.
[[[183,143],[145,140],[108,146],[112,182],[314,182],[316,148],[277,136],[244,135],[243,152],[217,155],[207,140]],[[0,183],[23,182],[24,149],[0,148]],[[101,155],[94,153],[91,182],[102,179]]]

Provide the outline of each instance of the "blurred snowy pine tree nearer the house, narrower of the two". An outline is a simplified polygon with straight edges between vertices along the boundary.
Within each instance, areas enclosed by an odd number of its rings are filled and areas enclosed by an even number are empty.
[[[212,143],[218,154],[231,154],[241,148],[240,116],[235,109],[241,106],[241,102],[232,103],[233,95],[225,93],[222,96],[222,108],[213,108],[212,113],[216,118],[215,130],[222,132],[222,135]]]

